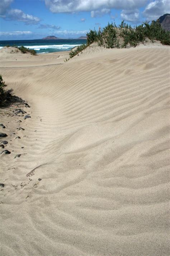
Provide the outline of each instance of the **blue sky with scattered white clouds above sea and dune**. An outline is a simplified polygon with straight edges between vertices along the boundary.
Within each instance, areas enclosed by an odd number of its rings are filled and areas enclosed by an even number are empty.
[[[135,26],[170,13],[170,0],[0,0],[0,40],[85,36],[122,20]]]

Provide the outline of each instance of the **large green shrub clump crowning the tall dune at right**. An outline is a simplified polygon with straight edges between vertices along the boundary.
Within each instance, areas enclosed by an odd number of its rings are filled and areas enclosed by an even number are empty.
[[[162,44],[170,45],[170,32],[165,31],[159,21],[144,22],[134,28],[122,21],[119,26],[112,23],[99,31],[90,30],[87,35],[87,45],[98,42],[99,46],[106,48],[126,48],[137,46],[140,42],[150,39],[159,40]]]

